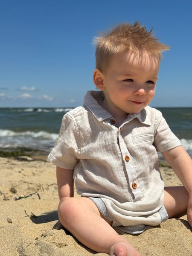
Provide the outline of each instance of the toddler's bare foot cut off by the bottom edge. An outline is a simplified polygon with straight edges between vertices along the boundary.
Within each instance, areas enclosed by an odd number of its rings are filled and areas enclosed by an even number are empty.
[[[110,256],[141,256],[137,250],[128,243],[128,241],[123,240],[113,244],[110,250]]]

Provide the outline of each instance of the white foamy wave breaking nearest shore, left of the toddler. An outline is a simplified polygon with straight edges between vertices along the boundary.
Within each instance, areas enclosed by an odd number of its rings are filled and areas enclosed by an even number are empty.
[[[16,132],[11,130],[0,129],[0,137],[33,137],[33,138],[44,138],[50,140],[57,140],[58,134],[48,133],[47,131],[23,131]]]

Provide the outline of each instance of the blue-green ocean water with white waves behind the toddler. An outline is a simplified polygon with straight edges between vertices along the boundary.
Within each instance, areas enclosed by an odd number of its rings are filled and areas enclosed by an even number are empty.
[[[0,148],[33,148],[49,152],[61,120],[72,108],[0,108]],[[192,157],[192,108],[157,108]]]

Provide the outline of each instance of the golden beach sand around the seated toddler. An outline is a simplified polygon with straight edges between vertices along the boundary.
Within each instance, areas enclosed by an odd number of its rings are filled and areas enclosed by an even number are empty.
[[[160,169],[166,186],[181,185],[169,166]],[[108,255],[84,247],[64,230],[57,206],[52,163],[29,157],[0,157],[0,256]],[[192,255],[192,229],[186,216],[147,227],[138,236],[122,236],[143,256]]]

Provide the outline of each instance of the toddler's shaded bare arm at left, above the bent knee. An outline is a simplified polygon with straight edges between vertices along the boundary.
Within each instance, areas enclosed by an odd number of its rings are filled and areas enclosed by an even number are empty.
[[[57,166],[57,185],[60,200],[73,197],[73,170]]]

